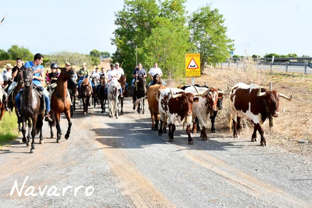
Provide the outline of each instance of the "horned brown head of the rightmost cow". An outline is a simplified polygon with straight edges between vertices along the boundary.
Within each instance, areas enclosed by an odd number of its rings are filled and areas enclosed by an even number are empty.
[[[290,95],[290,97],[287,97],[286,95],[279,93],[275,90],[261,92],[261,87],[259,87],[257,96],[262,96],[266,100],[266,105],[273,117],[278,117],[280,115],[280,97],[285,98],[289,101],[292,99],[292,95]]]

